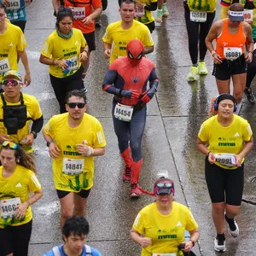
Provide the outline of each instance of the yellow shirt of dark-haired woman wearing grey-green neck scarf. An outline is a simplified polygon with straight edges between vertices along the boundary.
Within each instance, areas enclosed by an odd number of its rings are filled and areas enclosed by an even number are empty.
[[[56,78],[66,78],[76,73],[81,66],[81,47],[85,45],[86,41],[79,29],[73,28],[73,36],[69,39],[59,37],[56,31],[52,32],[44,41],[41,54],[52,60],[70,61],[71,65],[68,73],[63,73],[61,67],[49,65],[49,73]]]

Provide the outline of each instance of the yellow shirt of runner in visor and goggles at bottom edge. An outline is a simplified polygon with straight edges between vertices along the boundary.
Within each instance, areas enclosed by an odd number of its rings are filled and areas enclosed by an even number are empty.
[[[132,228],[144,237],[151,238],[151,244],[142,248],[141,256],[152,256],[152,253],[177,253],[177,246],[184,241],[185,230],[192,231],[198,228],[188,207],[172,201],[172,212],[161,214],[152,203],[144,207],[138,214]]]

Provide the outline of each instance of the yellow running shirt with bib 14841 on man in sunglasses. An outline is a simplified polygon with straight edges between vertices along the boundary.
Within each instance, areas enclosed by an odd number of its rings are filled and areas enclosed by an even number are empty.
[[[84,143],[91,148],[103,148],[106,141],[102,125],[95,117],[84,113],[83,120],[76,128],[69,127],[67,117],[68,113],[57,114],[49,119],[43,129],[61,149],[60,156],[53,159],[55,189],[79,192],[93,186],[94,157],[79,154],[76,144]],[[73,174],[75,172],[81,174]]]

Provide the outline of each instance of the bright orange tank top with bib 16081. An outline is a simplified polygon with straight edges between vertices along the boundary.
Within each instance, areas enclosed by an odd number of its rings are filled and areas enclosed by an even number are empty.
[[[228,28],[229,19],[223,20],[223,30],[216,39],[216,52],[222,60],[236,60],[244,52],[246,36],[242,29],[242,22],[236,34],[230,34]]]

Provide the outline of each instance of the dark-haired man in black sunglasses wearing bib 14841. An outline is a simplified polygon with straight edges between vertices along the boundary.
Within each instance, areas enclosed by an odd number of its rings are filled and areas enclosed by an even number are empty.
[[[49,119],[44,139],[53,159],[55,189],[61,203],[61,226],[71,216],[84,216],[93,186],[94,156],[105,154],[101,123],[85,113],[86,96],[79,90],[67,94],[67,113]]]

